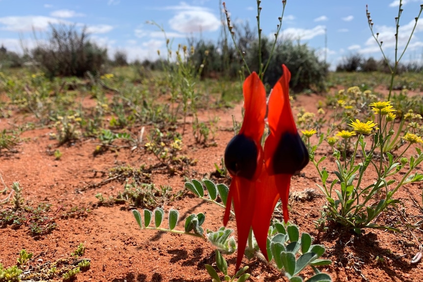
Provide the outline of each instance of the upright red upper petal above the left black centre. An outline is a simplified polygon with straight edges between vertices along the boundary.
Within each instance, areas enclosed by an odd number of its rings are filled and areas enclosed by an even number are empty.
[[[260,77],[253,72],[242,86],[244,94],[244,120],[239,134],[253,139],[260,145],[266,115],[266,90]]]

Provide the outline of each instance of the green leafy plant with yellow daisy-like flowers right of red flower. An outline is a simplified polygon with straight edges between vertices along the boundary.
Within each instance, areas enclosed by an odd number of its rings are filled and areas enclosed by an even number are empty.
[[[395,133],[390,124],[393,123],[392,114],[396,110],[390,102],[374,102],[370,103],[370,107],[377,115],[377,124],[372,121],[351,120],[348,126],[353,130],[341,130],[337,133],[343,140],[342,151],[334,148],[336,139],[328,139],[338,168],[334,172],[335,179],[329,179],[325,167],[320,168],[326,156],[316,160],[316,146],[309,145],[310,161],[315,165],[322,181],[318,186],[328,201],[323,207],[327,219],[350,227],[357,233],[360,233],[362,228],[395,230],[376,224],[374,219],[389,206],[399,202],[394,196],[401,186],[423,180],[423,174],[416,170],[423,161],[421,149],[416,147],[417,154],[409,158],[403,157],[413,144],[422,144],[422,138],[407,132],[400,137],[408,143],[405,149],[395,157],[385,152],[386,142],[389,142]],[[370,139],[368,135],[373,137],[370,144],[366,142]],[[354,138],[356,139],[352,142],[352,153],[347,155],[348,141]],[[379,154],[378,159],[375,158],[376,154]],[[360,162],[356,159],[358,155],[361,155]],[[369,181],[369,166],[373,167],[377,174],[373,182]],[[394,178],[395,175],[400,175],[399,180]]]

